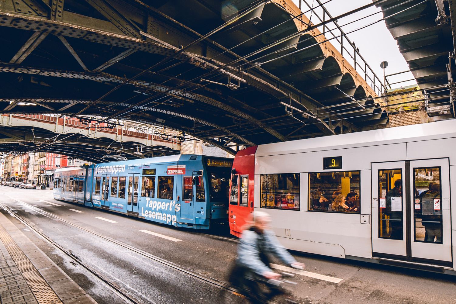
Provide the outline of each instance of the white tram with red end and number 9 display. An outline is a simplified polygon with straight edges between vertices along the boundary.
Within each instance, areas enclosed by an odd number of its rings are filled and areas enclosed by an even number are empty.
[[[265,211],[288,249],[456,274],[456,119],[243,151],[233,234]]]

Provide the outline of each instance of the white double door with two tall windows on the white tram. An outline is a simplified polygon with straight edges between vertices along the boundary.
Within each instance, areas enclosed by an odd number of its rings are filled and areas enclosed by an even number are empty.
[[[373,257],[451,267],[449,160],[371,168]]]

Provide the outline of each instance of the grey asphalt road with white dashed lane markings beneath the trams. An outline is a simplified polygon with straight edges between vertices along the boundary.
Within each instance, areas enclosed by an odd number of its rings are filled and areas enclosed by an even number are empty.
[[[226,281],[228,269],[236,256],[237,242],[229,236],[227,227],[197,232],[153,224],[56,201],[52,199],[52,191],[48,190],[0,186],[0,203],[15,209],[18,215],[26,217],[41,232],[142,303],[222,303],[218,287],[59,221],[42,211],[220,282]],[[19,222],[17,225],[21,226]],[[26,227],[22,227],[22,231],[98,303],[122,303],[85,270],[66,263],[61,253],[49,247],[33,232]],[[306,264],[305,270],[309,272],[306,275],[296,274],[291,279],[297,282],[292,296],[298,303],[456,304],[456,277],[292,253],[299,262]],[[337,279],[341,281],[335,283],[339,281]],[[228,294],[226,297],[226,303],[246,303],[236,295]]]

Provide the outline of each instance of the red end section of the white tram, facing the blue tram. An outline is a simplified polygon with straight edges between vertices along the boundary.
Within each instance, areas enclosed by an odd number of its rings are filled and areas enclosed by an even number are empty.
[[[240,150],[233,161],[228,221],[231,234],[237,237],[240,237],[243,227],[249,220],[249,214],[254,211],[256,149],[257,146]]]

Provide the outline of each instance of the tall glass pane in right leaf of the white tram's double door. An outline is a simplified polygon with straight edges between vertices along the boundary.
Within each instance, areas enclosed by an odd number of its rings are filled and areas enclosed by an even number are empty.
[[[413,168],[415,242],[443,243],[440,167]]]

